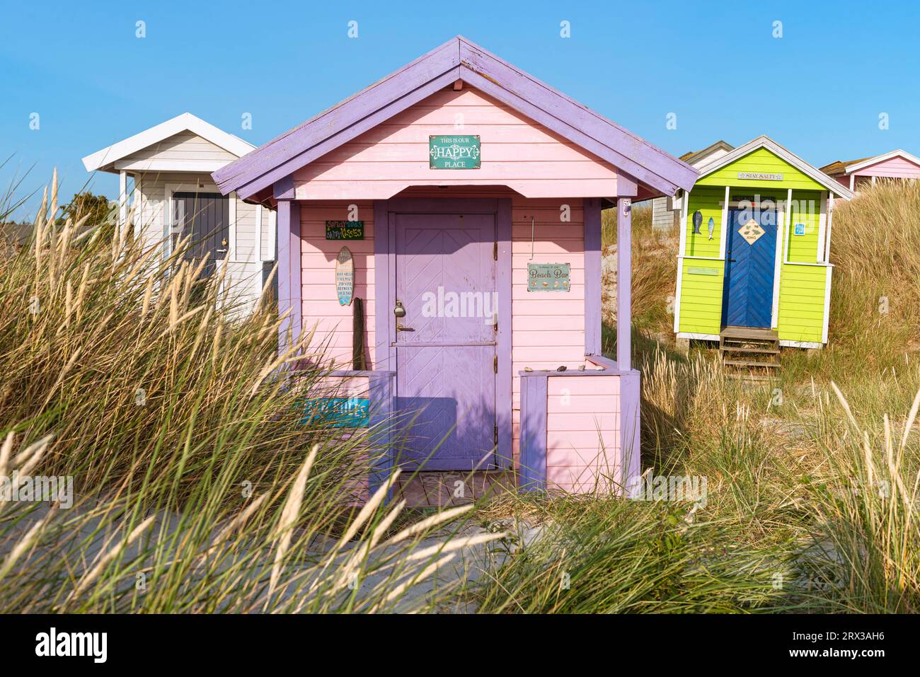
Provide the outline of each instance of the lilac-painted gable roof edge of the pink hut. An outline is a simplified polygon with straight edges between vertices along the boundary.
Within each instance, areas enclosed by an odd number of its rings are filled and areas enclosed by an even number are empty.
[[[276,181],[463,80],[614,165],[655,192],[689,188],[696,170],[510,63],[457,36],[331,109],[218,169],[224,195],[265,199]]]

